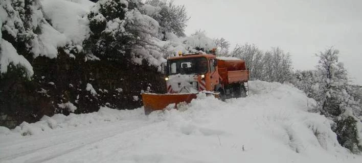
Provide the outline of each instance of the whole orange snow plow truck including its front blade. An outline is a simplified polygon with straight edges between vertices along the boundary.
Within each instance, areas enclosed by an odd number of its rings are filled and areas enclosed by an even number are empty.
[[[142,93],[145,114],[174,104],[190,103],[202,92],[221,100],[246,97],[249,71],[245,61],[212,54],[179,52],[163,66],[167,93]]]

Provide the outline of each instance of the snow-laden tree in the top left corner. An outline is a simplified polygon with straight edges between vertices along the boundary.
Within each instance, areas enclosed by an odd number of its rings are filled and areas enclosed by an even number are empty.
[[[42,14],[39,13],[38,1],[9,1],[4,0],[0,3],[1,19],[1,50],[0,50],[0,72],[6,73],[8,66],[16,66],[24,69],[24,75],[28,78],[33,75],[33,68],[29,61],[25,59],[26,51],[30,51],[33,40],[37,35],[33,32],[38,28],[39,19]],[[27,14],[26,14],[27,12]],[[40,15],[37,15],[40,14]],[[19,54],[19,52],[21,52]],[[31,57],[31,56],[30,56]]]

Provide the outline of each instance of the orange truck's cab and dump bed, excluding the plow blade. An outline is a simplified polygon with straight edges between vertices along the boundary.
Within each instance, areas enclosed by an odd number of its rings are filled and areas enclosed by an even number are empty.
[[[206,54],[169,58],[166,71],[168,93],[212,91],[237,97],[240,89],[246,93],[244,83],[249,78],[244,60]]]

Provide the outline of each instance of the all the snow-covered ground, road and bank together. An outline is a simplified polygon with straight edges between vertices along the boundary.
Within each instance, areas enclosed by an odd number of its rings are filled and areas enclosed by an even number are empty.
[[[362,162],[301,91],[249,84],[246,98],[201,94],[178,111],[102,108],[0,127],[0,162]]]

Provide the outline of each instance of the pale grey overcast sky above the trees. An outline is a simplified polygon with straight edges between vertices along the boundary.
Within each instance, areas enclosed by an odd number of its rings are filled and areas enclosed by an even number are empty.
[[[295,69],[313,69],[314,53],[340,50],[351,80],[362,85],[362,0],[175,0],[191,19],[186,34],[205,30],[232,44],[290,52]]]

